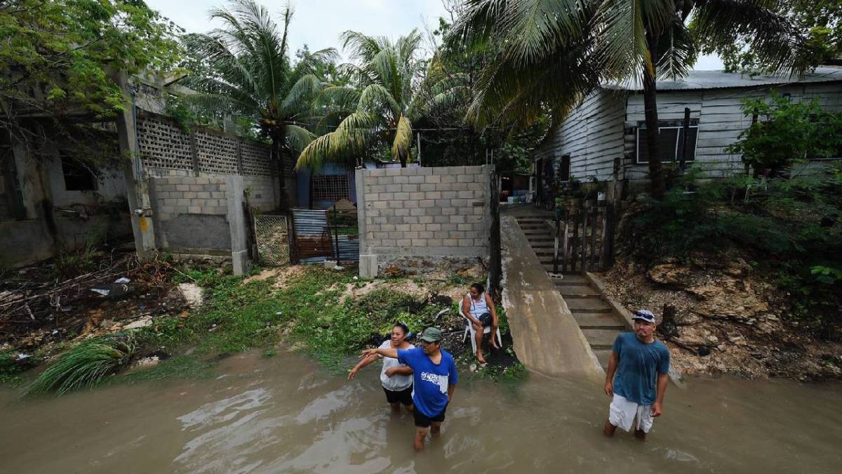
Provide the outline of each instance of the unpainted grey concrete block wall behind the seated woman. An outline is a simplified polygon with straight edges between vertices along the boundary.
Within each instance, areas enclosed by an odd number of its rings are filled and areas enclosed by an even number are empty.
[[[492,170],[357,170],[360,274],[418,257],[487,257]]]

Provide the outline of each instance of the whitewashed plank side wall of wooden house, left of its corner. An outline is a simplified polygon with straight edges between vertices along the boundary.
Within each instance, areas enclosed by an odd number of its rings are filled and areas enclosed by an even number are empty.
[[[570,155],[570,175],[579,180],[608,180],[614,159],[623,155],[624,98],[599,90],[586,97],[536,150],[534,158],[559,162]]]

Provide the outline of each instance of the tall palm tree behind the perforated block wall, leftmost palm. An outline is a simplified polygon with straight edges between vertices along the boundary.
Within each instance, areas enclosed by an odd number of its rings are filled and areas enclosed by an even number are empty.
[[[272,142],[272,158],[280,174],[281,208],[288,207],[283,156],[299,152],[314,137],[312,100],[324,87],[314,65],[334,62],[333,48],[308,52],[290,64],[287,35],[292,9],[282,11],[279,32],[269,11],[253,0],[232,0],[229,8],[210,10],[221,28],[205,35],[187,35],[185,46],[201,58],[201,75],[184,82],[199,94],[189,100],[211,115],[232,114],[249,119]]]

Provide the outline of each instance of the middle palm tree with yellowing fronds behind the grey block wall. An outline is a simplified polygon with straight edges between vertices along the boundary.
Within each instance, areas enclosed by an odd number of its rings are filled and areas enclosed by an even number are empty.
[[[411,117],[418,107],[416,83],[424,67],[417,57],[421,39],[418,30],[394,43],[356,31],[342,34],[343,46],[356,62],[344,69],[356,87],[328,87],[319,94],[317,108],[323,118],[317,130],[326,133],[304,148],[296,169],[359,160],[383,145],[391,148],[392,159],[407,165],[413,141]]]

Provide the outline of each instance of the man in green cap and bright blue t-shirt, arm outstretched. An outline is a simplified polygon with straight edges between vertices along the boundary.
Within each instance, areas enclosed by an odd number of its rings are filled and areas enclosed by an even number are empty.
[[[424,439],[431,430],[433,436],[441,432],[445,411],[453,400],[459,374],[453,356],[441,348],[441,330],[428,327],[420,337],[422,347],[396,349],[392,347],[366,349],[364,356],[379,354],[397,358],[413,369],[413,404],[415,411],[415,450],[424,450]]]

